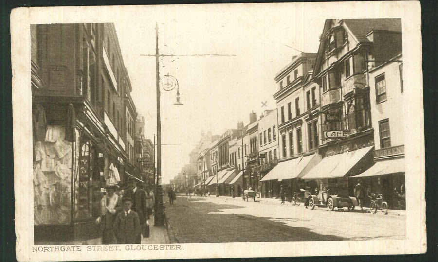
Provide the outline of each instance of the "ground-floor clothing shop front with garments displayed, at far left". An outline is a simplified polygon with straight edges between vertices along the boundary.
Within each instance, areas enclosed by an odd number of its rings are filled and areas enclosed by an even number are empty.
[[[99,237],[110,165],[104,128],[83,101],[33,103],[34,240],[37,244]],[[84,106],[85,105],[85,106]]]

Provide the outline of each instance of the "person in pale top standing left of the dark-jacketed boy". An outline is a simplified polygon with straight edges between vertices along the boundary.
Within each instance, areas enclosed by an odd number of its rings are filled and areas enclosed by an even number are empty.
[[[102,199],[102,215],[96,219],[96,224],[100,225],[102,232],[102,244],[117,244],[117,239],[114,235],[113,225],[117,213],[122,211],[122,201],[115,191],[115,184],[106,186],[107,195]]]

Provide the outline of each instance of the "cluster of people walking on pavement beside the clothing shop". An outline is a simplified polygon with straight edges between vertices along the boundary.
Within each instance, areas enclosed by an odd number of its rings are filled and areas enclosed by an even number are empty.
[[[118,193],[116,184],[106,186],[102,215],[96,219],[102,231],[102,244],[141,243],[142,234],[149,228],[147,219],[153,214],[155,197],[152,187],[143,190],[139,186],[133,177],[128,180],[128,187]]]

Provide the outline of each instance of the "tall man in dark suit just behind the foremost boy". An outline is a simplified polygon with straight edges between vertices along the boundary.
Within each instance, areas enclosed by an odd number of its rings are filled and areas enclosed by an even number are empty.
[[[128,190],[125,192],[125,196],[132,199],[132,210],[138,214],[140,225],[144,226],[148,218],[146,192],[137,187],[137,180],[134,177],[128,180]],[[138,241],[141,242],[141,235]]]

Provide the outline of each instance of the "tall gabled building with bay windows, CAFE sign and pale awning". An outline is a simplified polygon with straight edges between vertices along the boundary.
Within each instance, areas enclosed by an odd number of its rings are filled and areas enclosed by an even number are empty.
[[[401,29],[401,19],[326,20],[313,70],[321,93],[323,160],[303,177],[312,188],[337,181],[352,195],[355,181],[347,177],[373,164],[370,69],[402,51]]]

